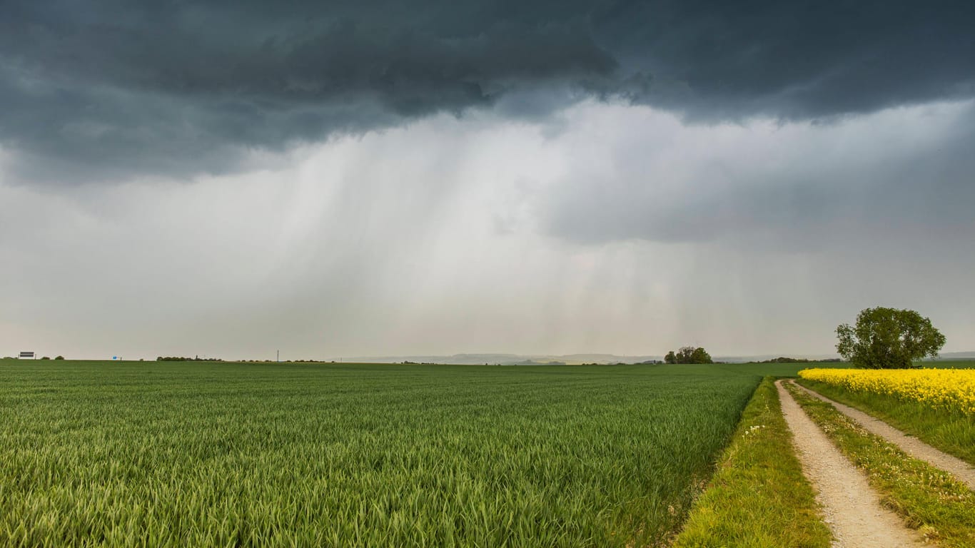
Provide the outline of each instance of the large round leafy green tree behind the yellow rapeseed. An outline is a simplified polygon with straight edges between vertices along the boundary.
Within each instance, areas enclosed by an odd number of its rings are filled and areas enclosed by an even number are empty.
[[[914,367],[915,360],[936,358],[945,345],[931,320],[914,310],[867,308],[856,317],[856,326],[837,327],[837,352],[854,367],[872,370]]]

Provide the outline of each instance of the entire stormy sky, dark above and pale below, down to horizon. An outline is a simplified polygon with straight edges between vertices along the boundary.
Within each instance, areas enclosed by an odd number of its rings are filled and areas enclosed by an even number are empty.
[[[969,2],[2,10],[0,355],[975,350]]]

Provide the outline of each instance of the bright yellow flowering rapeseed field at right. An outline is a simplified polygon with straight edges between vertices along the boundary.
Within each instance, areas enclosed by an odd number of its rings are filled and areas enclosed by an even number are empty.
[[[975,414],[975,370],[828,370],[799,372],[809,380],[875,392],[934,409]]]

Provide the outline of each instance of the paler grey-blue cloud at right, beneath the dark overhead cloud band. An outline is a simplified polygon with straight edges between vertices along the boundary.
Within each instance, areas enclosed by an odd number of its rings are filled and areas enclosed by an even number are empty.
[[[587,244],[731,242],[780,252],[903,244],[917,234],[967,249],[975,233],[975,102],[673,138],[678,149],[659,152],[642,144],[650,136],[621,139],[633,144],[614,150],[611,174],[588,174],[582,160],[566,170],[545,207],[548,232]]]

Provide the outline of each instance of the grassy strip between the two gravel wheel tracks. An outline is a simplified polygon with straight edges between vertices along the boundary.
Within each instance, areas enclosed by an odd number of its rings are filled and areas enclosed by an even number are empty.
[[[790,386],[802,409],[857,467],[883,504],[941,546],[975,547],[975,493],[945,472],[912,458],[832,405]]]

